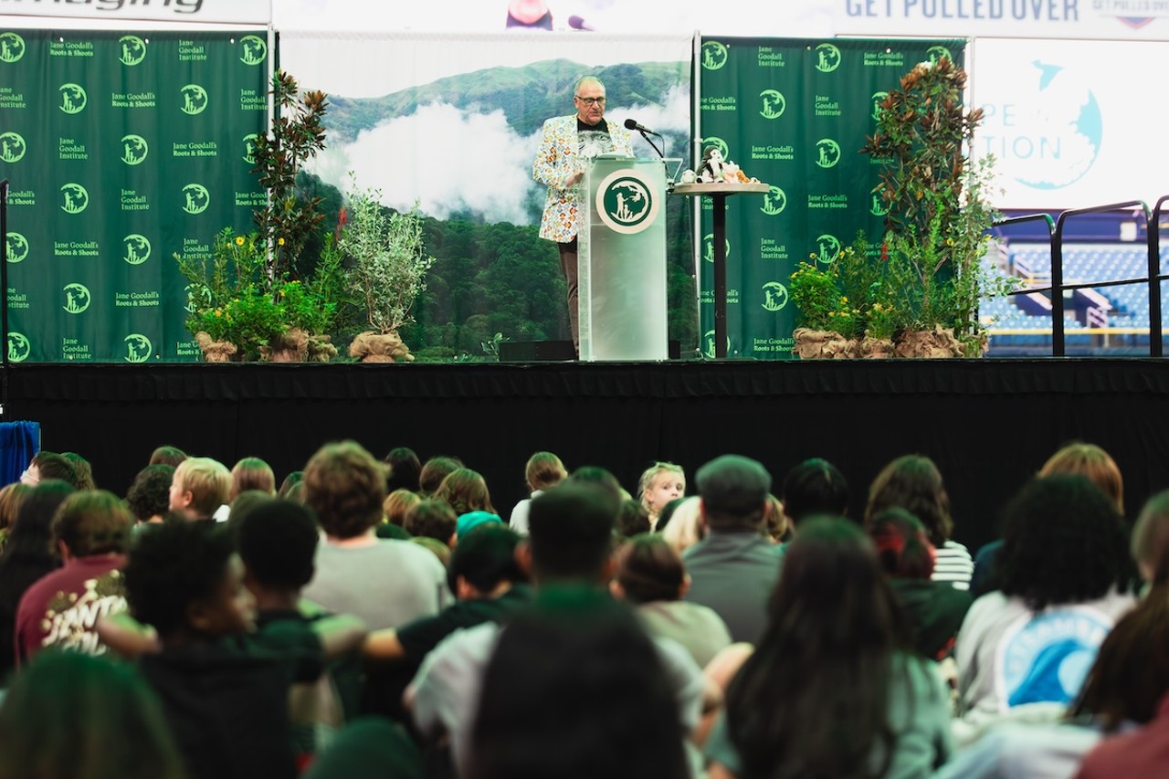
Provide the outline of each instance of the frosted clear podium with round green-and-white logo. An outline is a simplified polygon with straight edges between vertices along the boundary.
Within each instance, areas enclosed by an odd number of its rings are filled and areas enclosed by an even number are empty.
[[[587,164],[582,187],[580,358],[667,359],[665,167],[600,157]]]

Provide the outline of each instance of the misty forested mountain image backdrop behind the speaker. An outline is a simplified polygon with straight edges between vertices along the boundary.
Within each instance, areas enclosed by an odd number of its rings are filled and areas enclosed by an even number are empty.
[[[687,157],[689,63],[589,68],[553,60],[381,97],[328,96],[326,150],[302,174],[302,194],[324,198],[325,232],[338,223],[351,171],[358,187],[382,191],[386,208],[417,207],[435,263],[416,322],[401,335],[420,359],[491,358],[497,333],[569,338],[556,247],[537,234],[545,188],[532,180],[532,159],[544,120],[573,112],[572,89],[583,73],[606,83],[610,122],[636,117],[662,132],[667,156]],[[635,151],[656,157],[641,139]],[[669,337],[686,354],[698,343],[690,200],[670,197],[666,219]],[[318,253],[319,243],[306,247],[302,270]]]

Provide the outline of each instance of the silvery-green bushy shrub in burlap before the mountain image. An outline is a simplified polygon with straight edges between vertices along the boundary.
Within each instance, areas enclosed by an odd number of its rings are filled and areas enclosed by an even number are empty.
[[[422,243],[422,222],[415,208],[390,213],[381,191],[353,189],[348,221],[338,244],[350,260],[351,291],[369,330],[350,345],[361,361],[413,361],[397,329],[414,320],[411,309],[426,290],[434,257]]]

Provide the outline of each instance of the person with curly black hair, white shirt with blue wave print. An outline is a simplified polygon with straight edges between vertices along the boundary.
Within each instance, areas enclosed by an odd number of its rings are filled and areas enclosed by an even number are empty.
[[[955,647],[960,713],[973,726],[1024,704],[1058,715],[1134,602],[1115,503],[1086,477],[1031,481],[1004,519],[1001,588],[974,601]]]

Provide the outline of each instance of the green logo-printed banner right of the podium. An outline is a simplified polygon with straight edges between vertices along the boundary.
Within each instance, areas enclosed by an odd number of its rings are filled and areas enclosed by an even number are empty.
[[[858,153],[885,92],[918,62],[963,61],[966,41],[703,39],[699,135],[765,195],[727,199],[727,357],[788,359],[788,280],[809,255],[830,261],[884,216],[878,170]],[[711,204],[703,202],[703,349],[714,356]]]

